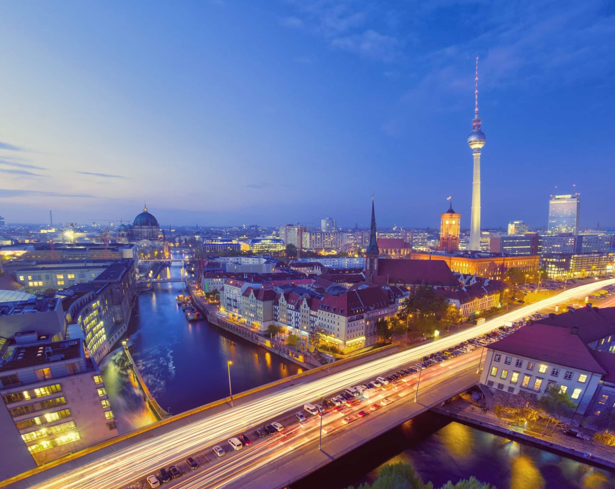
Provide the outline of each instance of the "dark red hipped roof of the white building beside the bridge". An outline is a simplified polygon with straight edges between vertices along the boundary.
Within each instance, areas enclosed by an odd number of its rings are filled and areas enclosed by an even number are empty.
[[[534,323],[491,343],[487,348],[539,362],[606,373],[579,336],[571,333],[571,330],[557,326]],[[545,375],[548,376],[549,373],[550,371],[547,371]]]

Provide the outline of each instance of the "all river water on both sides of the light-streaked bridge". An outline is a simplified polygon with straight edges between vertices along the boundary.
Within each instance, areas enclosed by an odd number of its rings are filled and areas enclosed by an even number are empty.
[[[181,258],[181,256],[177,256]],[[181,262],[165,269],[180,276]],[[175,296],[180,283],[156,284],[137,296],[127,338],[130,351],[156,400],[173,414],[228,396],[227,360],[232,360],[233,392],[288,375],[300,367],[208,324],[188,322]],[[132,384],[128,361],[117,346],[101,370],[120,433],[156,421]],[[325,443],[326,448],[326,443]],[[373,482],[383,464],[412,464],[436,488],[475,475],[498,489],[615,489],[614,474],[531,445],[425,413],[363,448],[329,464],[293,489],[358,487]]]

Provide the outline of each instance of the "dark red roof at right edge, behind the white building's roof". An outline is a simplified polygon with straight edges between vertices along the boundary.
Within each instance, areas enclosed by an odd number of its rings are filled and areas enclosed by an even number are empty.
[[[615,334],[615,308],[579,308],[555,317],[541,319],[537,324],[560,328],[579,328],[579,338],[585,343]]]

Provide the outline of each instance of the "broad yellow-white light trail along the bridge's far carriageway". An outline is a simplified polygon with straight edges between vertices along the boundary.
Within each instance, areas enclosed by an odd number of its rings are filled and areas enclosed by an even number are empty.
[[[228,411],[216,413],[200,421],[156,435],[152,439],[135,443],[132,447],[117,451],[112,455],[104,455],[98,461],[65,472],[36,487],[39,489],[113,489],[125,486],[132,480],[155,473],[160,467],[169,466],[174,461],[186,458],[210,445],[215,445],[220,440],[226,440],[240,432],[262,426],[265,421],[303,405],[306,400],[328,396],[349,385],[376,378],[383,372],[408,365],[412,360],[490,332],[506,321],[521,319],[538,309],[555,306],[562,301],[587,295],[611,284],[615,284],[615,279],[574,287],[537,303],[501,314],[480,326],[444,336],[438,341],[371,360],[363,365],[288,387],[246,404],[236,405]]]

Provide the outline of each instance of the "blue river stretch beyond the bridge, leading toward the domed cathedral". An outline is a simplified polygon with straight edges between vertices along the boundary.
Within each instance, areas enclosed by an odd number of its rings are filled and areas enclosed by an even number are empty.
[[[172,262],[162,273],[180,276],[181,262]],[[137,296],[127,338],[141,375],[163,409],[178,414],[228,396],[227,360],[232,361],[234,393],[301,372],[298,365],[205,319],[189,322],[175,300],[182,293],[180,282],[153,287],[153,292]],[[121,343],[103,359],[101,370],[120,433],[156,420],[130,381]]]

